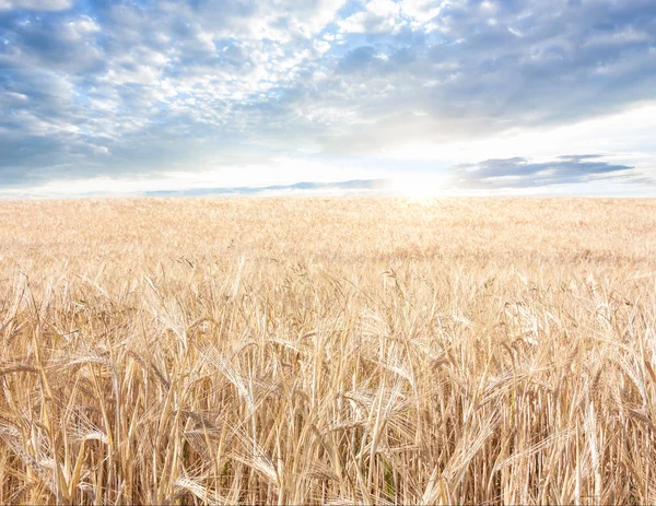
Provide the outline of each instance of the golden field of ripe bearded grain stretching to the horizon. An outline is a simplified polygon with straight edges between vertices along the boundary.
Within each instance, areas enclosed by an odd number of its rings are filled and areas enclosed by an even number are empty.
[[[0,504],[654,504],[656,200],[0,203]]]

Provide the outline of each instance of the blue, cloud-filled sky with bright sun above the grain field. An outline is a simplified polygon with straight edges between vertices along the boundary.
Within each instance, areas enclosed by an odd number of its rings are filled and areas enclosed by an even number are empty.
[[[0,198],[656,197],[654,0],[0,0]]]

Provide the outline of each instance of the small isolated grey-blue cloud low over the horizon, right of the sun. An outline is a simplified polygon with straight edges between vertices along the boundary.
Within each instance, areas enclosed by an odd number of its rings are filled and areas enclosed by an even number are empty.
[[[538,188],[614,179],[644,184],[634,167],[601,161],[602,155],[563,155],[551,162],[531,162],[524,157],[487,160],[454,167],[450,184],[459,189]],[[653,183],[653,181],[652,181]]]

